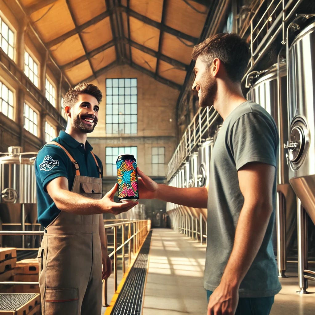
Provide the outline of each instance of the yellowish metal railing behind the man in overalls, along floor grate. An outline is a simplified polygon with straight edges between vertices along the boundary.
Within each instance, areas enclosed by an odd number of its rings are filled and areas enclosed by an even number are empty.
[[[113,222],[108,224],[109,222]],[[125,258],[128,257],[128,265],[132,263],[131,253],[135,256],[138,254],[148,232],[151,229],[150,220],[104,220],[104,227],[107,234],[109,230],[113,233],[113,244],[108,244],[109,257],[113,257],[114,265],[114,293],[117,291],[117,260],[122,258],[123,274],[126,272]],[[121,230],[121,233],[119,233]],[[43,231],[0,231],[0,241],[3,235],[20,235],[20,236],[43,236]],[[121,238],[121,239],[120,239]],[[1,247],[0,242],[0,247]],[[126,247],[128,250],[126,253]],[[17,248],[17,250],[38,250],[38,248]],[[112,251],[110,252],[110,250]],[[121,253],[121,254],[120,254]],[[127,256],[128,255],[128,256]],[[126,257],[127,256],[127,257]],[[22,281],[2,281],[0,285],[39,285],[38,282]],[[108,306],[107,301],[107,281],[103,281],[103,306]]]

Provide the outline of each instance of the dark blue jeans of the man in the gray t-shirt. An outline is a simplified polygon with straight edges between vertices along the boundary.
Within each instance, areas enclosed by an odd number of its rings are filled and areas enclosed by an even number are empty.
[[[207,290],[207,300],[212,291]],[[274,295],[268,297],[240,297],[235,315],[269,315]]]

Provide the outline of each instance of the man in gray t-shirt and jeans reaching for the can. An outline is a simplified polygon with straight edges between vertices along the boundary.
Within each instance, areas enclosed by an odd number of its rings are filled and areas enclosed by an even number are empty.
[[[278,131],[272,117],[243,97],[249,61],[236,34],[217,34],[193,49],[199,106],[223,118],[205,187],[157,184],[140,170],[140,198],[207,208],[204,287],[208,315],[268,315],[281,285],[273,254]]]

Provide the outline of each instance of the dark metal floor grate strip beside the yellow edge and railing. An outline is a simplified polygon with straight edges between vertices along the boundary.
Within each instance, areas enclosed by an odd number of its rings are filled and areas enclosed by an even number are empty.
[[[151,236],[152,231],[149,232],[140,249],[137,259],[126,278],[123,288],[112,309],[111,315],[141,314]]]

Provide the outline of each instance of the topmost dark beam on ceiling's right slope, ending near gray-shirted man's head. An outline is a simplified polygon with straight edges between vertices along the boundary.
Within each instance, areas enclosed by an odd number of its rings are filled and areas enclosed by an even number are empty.
[[[181,31],[175,30],[172,27],[169,27],[169,26],[163,25],[162,23],[159,23],[157,21],[151,20],[148,17],[141,15],[138,12],[135,12],[135,11],[129,9],[128,7],[121,5],[119,7],[119,9],[122,10],[123,12],[127,13],[128,15],[142,21],[142,22],[159,29],[160,31],[164,31],[164,32],[172,34],[176,37],[180,37],[181,39],[187,40],[187,41],[193,43],[194,45],[196,45],[198,43],[199,38],[187,35]]]

